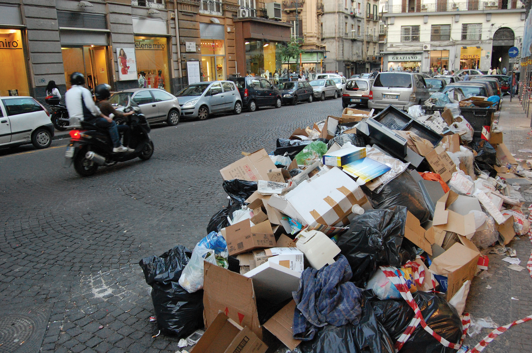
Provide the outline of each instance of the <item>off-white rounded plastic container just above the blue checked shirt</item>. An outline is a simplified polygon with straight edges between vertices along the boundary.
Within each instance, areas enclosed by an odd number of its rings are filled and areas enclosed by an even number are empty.
[[[310,265],[319,270],[327,264],[335,262],[334,257],[340,253],[340,248],[321,231],[301,231],[296,237],[296,247],[305,254]]]

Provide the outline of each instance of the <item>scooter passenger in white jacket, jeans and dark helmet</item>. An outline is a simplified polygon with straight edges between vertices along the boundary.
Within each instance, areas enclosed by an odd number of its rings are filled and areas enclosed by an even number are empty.
[[[72,87],[65,93],[66,109],[70,118],[85,120],[87,123],[98,127],[107,128],[111,141],[113,142],[113,152],[127,152],[128,149],[120,143],[117,124],[110,117],[102,114],[102,111],[94,104],[93,95],[83,85],[85,76],[79,72],[70,75]]]

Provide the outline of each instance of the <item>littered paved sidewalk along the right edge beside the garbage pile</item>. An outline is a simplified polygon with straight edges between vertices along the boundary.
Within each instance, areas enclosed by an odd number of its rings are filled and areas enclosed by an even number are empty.
[[[516,153],[515,158],[532,159],[532,153],[518,152],[519,149],[532,149],[532,136],[530,132],[530,120],[519,105],[517,97],[512,99],[505,96],[499,119],[500,127],[503,127],[503,141],[511,153]],[[528,214],[528,206],[532,203],[532,194],[523,192],[532,186],[522,186],[519,192],[525,200],[523,212]],[[521,266],[525,267],[530,256],[532,245],[526,236],[516,237],[509,246],[517,251],[517,257],[521,260]],[[521,272],[507,268],[509,265],[502,259],[506,255],[488,254],[491,277],[475,277],[471,283],[469,297],[465,312],[471,313],[475,318],[491,317],[499,326],[509,324],[527,315],[532,314],[532,278],[528,270]],[[487,286],[491,289],[487,289]],[[511,298],[519,300],[513,300]],[[475,337],[467,337],[465,344],[474,347],[493,329],[483,329]],[[484,350],[489,353],[531,352],[532,351],[532,324],[523,323],[513,326],[510,330],[501,334]]]

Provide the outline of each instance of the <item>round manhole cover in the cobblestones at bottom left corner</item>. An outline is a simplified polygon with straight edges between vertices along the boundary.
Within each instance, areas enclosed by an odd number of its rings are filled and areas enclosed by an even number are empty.
[[[38,352],[49,316],[48,306],[0,308],[0,353]]]

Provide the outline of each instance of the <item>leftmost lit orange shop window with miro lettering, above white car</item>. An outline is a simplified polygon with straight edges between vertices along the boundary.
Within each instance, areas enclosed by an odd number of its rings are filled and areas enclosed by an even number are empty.
[[[0,29],[0,96],[29,96],[28,71],[22,48],[22,32]]]

